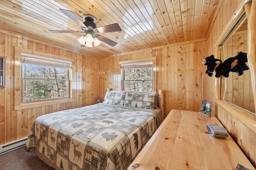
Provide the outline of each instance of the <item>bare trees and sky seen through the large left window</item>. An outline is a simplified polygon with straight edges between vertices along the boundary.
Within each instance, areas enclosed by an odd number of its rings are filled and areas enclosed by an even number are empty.
[[[68,68],[23,63],[23,102],[67,98],[68,70]]]

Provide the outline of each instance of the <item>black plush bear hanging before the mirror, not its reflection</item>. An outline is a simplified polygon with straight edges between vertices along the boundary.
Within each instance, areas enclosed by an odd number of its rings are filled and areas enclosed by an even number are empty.
[[[214,55],[211,55],[209,57],[206,57],[202,60],[202,63],[207,66],[206,74],[208,76],[212,76],[212,72],[215,69],[215,77],[220,77],[222,74],[222,61],[220,59],[215,59]],[[216,68],[215,68],[216,67]]]

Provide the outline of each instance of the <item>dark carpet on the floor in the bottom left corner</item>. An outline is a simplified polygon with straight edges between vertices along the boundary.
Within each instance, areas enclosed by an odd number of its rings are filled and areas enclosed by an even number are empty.
[[[0,170],[54,170],[25,147],[0,155]]]

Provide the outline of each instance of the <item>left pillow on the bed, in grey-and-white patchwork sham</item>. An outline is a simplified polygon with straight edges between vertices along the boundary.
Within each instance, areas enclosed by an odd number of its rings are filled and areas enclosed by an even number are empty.
[[[124,105],[124,98],[126,92],[106,92],[103,103],[105,104],[115,104]]]

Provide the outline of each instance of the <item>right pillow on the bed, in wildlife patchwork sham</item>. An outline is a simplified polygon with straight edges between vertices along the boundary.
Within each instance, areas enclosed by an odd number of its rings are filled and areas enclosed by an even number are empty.
[[[126,92],[124,106],[140,107],[144,109],[154,109],[156,93],[136,93]]]

